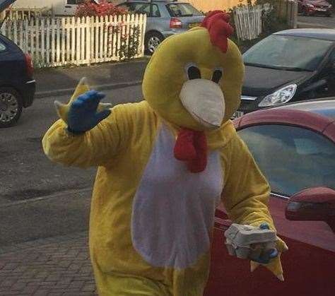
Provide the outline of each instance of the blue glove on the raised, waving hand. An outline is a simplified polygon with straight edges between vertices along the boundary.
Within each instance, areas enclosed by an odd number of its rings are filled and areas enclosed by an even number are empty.
[[[98,93],[95,90],[80,95],[69,109],[68,131],[73,134],[82,134],[93,129],[99,122],[108,117],[110,109],[97,113],[99,102],[104,97],[103,93]]]

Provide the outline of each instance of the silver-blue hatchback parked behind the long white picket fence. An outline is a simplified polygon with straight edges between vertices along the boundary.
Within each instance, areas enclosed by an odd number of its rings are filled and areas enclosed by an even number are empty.
[[[134,13],[147,16],[145,47],[153,54],[166,37],[199,25],[204,13],[186,2],[177,1],[127,1],[118,5]]]

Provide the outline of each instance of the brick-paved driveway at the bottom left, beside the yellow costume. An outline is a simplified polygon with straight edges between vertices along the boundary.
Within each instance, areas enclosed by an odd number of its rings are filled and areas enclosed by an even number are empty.
[[[95,296],[88,235],[37,239],[0,253],[0,296]]]

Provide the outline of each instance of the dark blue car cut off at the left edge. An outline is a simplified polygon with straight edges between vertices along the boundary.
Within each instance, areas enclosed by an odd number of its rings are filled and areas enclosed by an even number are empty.
[[[0,11],[11,2],[0,0]],[[30,55],[0,34],[0,128],[15,124],[22,109],[33,104],[34,94]]]

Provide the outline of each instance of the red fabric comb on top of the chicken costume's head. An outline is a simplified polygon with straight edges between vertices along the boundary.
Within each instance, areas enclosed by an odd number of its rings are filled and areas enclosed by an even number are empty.
[[[213,45],[219,47],[226,53],[228,49],[228,37],[233,34],[234,29],[229,24],[230,16],[224,11],[211,11],[201,23],[201,27],[208,30]]]

